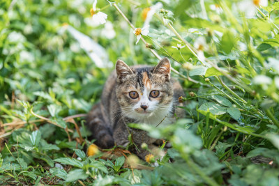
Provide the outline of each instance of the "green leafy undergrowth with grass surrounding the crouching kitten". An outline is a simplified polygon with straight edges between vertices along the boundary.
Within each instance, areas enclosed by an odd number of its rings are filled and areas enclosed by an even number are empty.
[[[91,0],[1,1],[0,184],[279,185],[279,3],[253,2],[98,1],[103,25]],[[137,45],[123,16],[150,25]],[[87,157],[84,114],[112,64],[159,56],[183,85],[187,116],[130,127],[172,148],[151,151],[153,164],[119,147]]]

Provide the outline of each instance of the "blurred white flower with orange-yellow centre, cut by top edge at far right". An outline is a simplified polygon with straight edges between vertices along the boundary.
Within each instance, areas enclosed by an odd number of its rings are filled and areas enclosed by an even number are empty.
[[[268,6],[267,0],[244,0],[237,4],[239,10],[245,13],[246,17],[255,17],[258,6]]]

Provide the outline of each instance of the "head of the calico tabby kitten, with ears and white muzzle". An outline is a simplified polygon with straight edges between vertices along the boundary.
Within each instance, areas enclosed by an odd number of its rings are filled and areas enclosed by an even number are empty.
[[[173,88],[171,65],[167,58],[156,67],[129,67],[116,62],[116,95],[123,114],[142,121],[142,118],[167,113],[172,109]]]

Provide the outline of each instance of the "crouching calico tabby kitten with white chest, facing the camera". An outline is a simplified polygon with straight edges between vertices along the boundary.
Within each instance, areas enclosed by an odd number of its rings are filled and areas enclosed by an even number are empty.
[[[129,67],[121,60],[116,62],[114,72],[108,77],[101,100],[89,112],[86,126],[91,130],[95,144],[100,148],[114,145],[126,147],[129,134],[142,159],[148,153],[140,146],[149,148],[156,141],[142,130],[128,127],[128,123],[146,123],[164,127],[174,123],[175,117],[183,118],[185,111],[176,106],[183,89],[170,77],[169,59],[162,59],[156,67],[137,65]],[[130,149],[130,148],[129,148]]]

